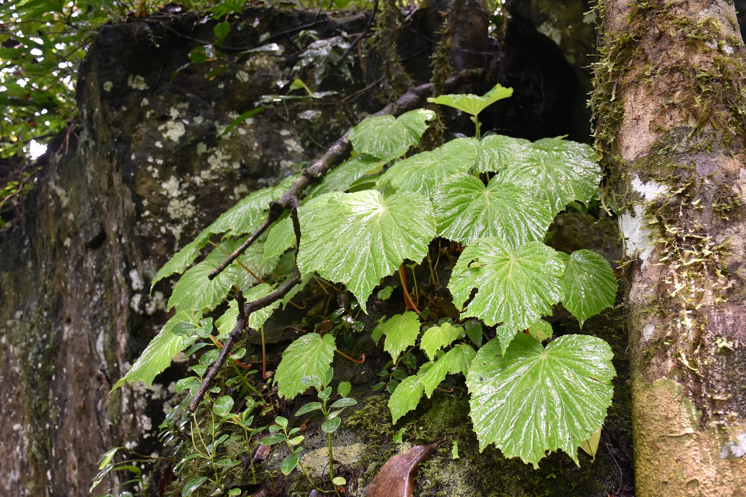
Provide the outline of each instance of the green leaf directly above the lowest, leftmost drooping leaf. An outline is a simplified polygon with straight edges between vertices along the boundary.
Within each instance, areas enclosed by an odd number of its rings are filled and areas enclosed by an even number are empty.
[[[225,241],[220,244],[222,250],[213,250],[204,261],[186,271],[169,298],[169,309],[176,306],[177,310],[193,308],[212,311],[216,308],[228,295],[233,282],[236,281],[238,270],[243,268],[233,262],[214,279],[207,276],[225,259],[226,252],[231,253],[235,250],[236,245],[234,240]]]

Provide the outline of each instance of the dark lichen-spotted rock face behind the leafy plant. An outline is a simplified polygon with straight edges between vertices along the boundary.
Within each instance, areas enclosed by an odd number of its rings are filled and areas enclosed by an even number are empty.
[[[439,25],[433,10],[422,9],[415,25]],[[292,69],[301,30],[327,38],[360,32],[365,22],[363,14],[330,19],[315,11],[245,9],[225,39],[230,63],[214,75],[207,72],[219,64],[175,74],[192,48],[213,39],[210,18],[171,11],[101,30],[80,69],[81,123],[51,142],[25,200],[22,229],[0,241],[0,494],[84,496],[107,449],[159,449],[157,425],[169,408],[169,383],[181,378],[179,366],[150,388],[126,385],[109,394],[169,315],[172,282],[150,292],[150,280],[244,194],[299,172],[351,122],[380,108],[364,93],[345,104],[297,101],[289,110],[245,118],[224,134],[262,95],[286,93],[301,74]],[[495,60],[542,37],[510,29],[515,45],[485,45]],[[413,36],[400,34],[402,53]],[[264,48],[233,60],[257,47]],[[426,46],[404,60],[413,80],[429,79],[432,51]],[[541,79],[553,53],[524,60],[520,72],[492,60],[497,71],[468,90],[481,92],[497,80],[517,88],[513,103],[485,113],[486,122],[500,129],[501,119],[513,118],[513,134],[530,139],[574,129],[562,85],[521,83]],[[559,68],[555,77],[577,86],[571,67],[551,60]],[[319,89],[351,95],[378,78],[357,63],[349,68],[352,83],[329,69]],[[542,92],[541,106],[521,107]],[[471,130],[462,121],[445,114],[451,133]],[[572,137],[587,139],[582,131]]]

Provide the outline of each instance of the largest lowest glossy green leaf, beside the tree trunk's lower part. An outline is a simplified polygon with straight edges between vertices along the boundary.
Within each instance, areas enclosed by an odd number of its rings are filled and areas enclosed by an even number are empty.
[[[518,334],[501,357],[496,340],[483,346],[466,384],[480,450],[495,443],[505,457],[538,467],[546,451],[577,448],[604,422],[616,376],[609,344],[565,335],[546,349]]]

